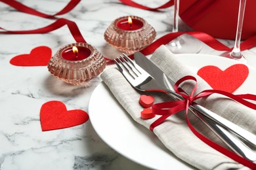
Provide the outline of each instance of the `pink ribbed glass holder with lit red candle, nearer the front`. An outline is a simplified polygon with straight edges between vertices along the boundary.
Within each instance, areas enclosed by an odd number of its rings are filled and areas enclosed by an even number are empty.
[[[106,60],[102,54],[83,42],[63,46],[48,63],[52,75],[75,86],[95,78],[105,67]]]

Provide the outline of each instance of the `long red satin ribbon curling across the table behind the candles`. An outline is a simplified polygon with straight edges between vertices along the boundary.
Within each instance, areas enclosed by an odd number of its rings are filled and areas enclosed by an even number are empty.
[[[33,14],[35,16],[41,16],[45,18],[55,18],[56,15],[65,14],[66,12],[69,12],[72,10],[78,3],[79,0],[72,0],[64,9],[60,10],[60,12],[57,12],[54,15],[49,14],[43,14],[41,12],[38,12],[37,10],[31,9],[30,7],[26,7],[25,5],[22,5],[21,3],[18,3],[14,0],[0,0],[3,3],[7,3],[11,7],[14,7],[14,9],[20,10],[21,12],[26,12],[28,14]],[[127,5],[133,4],[133,1],[126,1],[126,0],[120,0],[122,3],[126,3]],[[169,1],[168,3],[165,3],[165,5],[162,5],[161,7],[158,7],[156,9],[162,9],[169,7],[173,1]],[[133,7],[139,7],[140,5],[133,4]],[[26,31],[9,31],[7,29],[4,29],[0,27],[3,31],[0,32],[0,34],[30,34],[30,33],[48,33],[50,31],[54,31],[55,29],[58,29],[64,25],[68,25],[68,28],[70,29],[70,33],[72,33],[72,36],[74,37],[76,42],[86,42],[85,39],[83,39],[83,36],[81,35],[79,28],[75,24],[75,22],[72,22],[70,20],[60,18],[56,20],[53,24],[47,25],[46,27],[42,27],[39,29],[33,29],[33,30],[26,30]],[[147,46],[146,48],[140,50],[142,54],[149,55],[152,54],[156,48],[161,46],[161,44],[167,44],[168,42],[172,41],[173,39],[179,37],[180,35],[187,33],[188,35],[192,35],[193,37],[199,39],[200,41],[204,42],[208,46],[211,46],[211,48],[215,50],[221,50],[221,51],[231,51],[232,48],[229,48],[228,46],[225,46],[221,42],[217,41],[215,38],[211,37],[210,35],[207,35],[206,33],[198,32],[198,31],[191,31],[191,32],[178,32],[178,33],[169,33],[167,35],[164,35],[160,39],[154,41],[152,44]],[[247,39],[246,41],[241,43],[241,50],[246,50],[249,48],[252,48],[256,44],[256,36],[251,37],[250,39]],[[133,58],[133,55],[130,56]],[[108,59],[107,60],[112,60]]]

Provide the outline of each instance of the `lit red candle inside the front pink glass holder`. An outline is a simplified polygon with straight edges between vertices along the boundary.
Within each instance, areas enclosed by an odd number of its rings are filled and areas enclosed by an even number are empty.
[[[67,48],[61,53],[62,58],[69,61],[79,61],[88,58],[91,55],[91,50],[84,46],[73,46]]]

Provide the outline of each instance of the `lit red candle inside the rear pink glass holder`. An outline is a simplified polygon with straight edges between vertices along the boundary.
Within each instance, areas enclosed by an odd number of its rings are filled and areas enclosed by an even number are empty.
[[[135,18],[132,19],[131,16],[129,16],[127,19],[119,20],[116,24],[116,26],[120,29],[127,31],[135,31],[143,27],[143,25],[143,22]]]

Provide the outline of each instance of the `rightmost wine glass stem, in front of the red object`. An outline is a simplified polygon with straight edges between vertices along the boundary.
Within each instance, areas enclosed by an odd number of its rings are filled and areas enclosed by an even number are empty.
[[[234,58],[241,58],[241,50],[240,50],[240,41],[242,35],[242,28],[244,22],[244,11],[245,11],[246,0],[240,0],[239,12],[238,12],[238,25],[236,27],[236,41],[234,44],[234,48],[231,52],[231,56]]]

